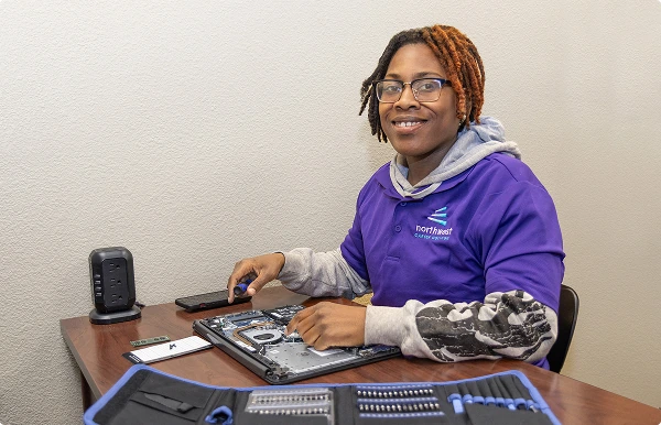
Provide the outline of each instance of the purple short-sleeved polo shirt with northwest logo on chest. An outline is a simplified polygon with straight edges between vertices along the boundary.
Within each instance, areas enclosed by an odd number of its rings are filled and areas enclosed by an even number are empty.
[[[484,302],[523,290],[557,312],[562,236],[551,196],[520,160],[491,154],[422,199],[402,197],[389,164],[360,190],[343,257],[373,305]]]

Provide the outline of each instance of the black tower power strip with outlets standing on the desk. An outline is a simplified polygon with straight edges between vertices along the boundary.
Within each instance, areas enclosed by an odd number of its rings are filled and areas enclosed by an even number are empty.
[[[133,255],[123,247],[99,248],[89,254],[89,280],[94,309],[89,322],[108,325],[137,319]]]

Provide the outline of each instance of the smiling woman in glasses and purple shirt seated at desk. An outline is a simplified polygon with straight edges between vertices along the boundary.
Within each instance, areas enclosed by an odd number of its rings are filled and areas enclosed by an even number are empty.
[[[553,201],[502,126],[480,117],[485,73],[452,26],[397,34],[362,84],[372,133],[397,154],[358,195],[339,249],[299,248],[238,262],[254,295],[279,279],[319,303],[296,330],[316,349],[383,344],[437,361],[508,357],[548,369],[564,265]],[[230,302],[234,295],[230,295]]]

